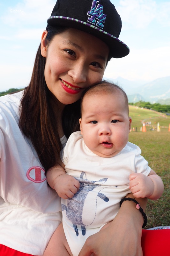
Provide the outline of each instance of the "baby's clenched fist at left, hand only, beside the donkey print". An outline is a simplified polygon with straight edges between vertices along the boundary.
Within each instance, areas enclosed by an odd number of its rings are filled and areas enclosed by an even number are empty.
[[[61,174],[57,177],[54,189],[63,199],[68,199],[77,193],[80,187],[78,180],[68,174]]]

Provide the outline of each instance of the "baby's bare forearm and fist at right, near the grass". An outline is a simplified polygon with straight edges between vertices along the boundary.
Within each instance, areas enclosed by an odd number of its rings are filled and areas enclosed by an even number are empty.
[[[156,200],[163,194],[164,184],[152,169],[148,176],[142,173],[131,173],[129,181],[129,188],[137,198],[147,197]]]

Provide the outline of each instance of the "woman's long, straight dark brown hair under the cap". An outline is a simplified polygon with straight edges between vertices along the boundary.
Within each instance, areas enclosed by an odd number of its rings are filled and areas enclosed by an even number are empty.
[[[49,45],[55,35],[68,28],[48,26],[46,44]],[[24,135],[31,139],[45,171],[58,164],[62,145],[58,134],[56,112],[49,103],[50,92],[44,77],[46,58],[38,48],[30,84],[25,88],[20,104],[19,127]],[[58,111],[59,108],[58,108]],[[68,138],[79,130],[80,100],[66,105],[63,110],[63,131]]]

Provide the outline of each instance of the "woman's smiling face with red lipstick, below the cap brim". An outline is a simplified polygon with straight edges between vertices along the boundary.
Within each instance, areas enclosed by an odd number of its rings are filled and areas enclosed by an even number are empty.
[[[85,88],[102,80],[109,48],[97,37],[74,28],[56,35],[48,46],[46,35],[44,31],[41,40],[46,84],[62,104],[71,104]]]

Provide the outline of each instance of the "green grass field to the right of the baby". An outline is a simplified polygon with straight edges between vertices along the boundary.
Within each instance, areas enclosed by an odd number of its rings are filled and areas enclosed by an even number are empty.
[[[142,156],[164,182],[162,197],[156,201],[148,201],[146,228],[170,226],[170,116],[133,106],[129,106],[129,116],[132,117],[132,127],[135,128],[135,132],[132,129],[129,134],[129,141],[141,148]],[[146,132],[140,132],[143,121],[151,122],[150,126],[146,126]],[[157,132],[158,122],[160,132]],[[151,131],[153,127],[156,129]]]

